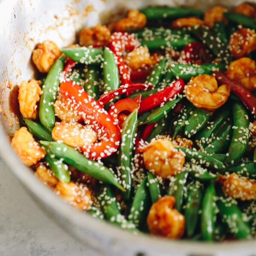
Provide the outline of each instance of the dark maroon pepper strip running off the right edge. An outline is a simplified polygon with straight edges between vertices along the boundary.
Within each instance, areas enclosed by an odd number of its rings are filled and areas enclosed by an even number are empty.
[[[220,84],[226,84],[230,87],[230,90],[244,102],[244,105],[250,110],[250,112],[256,116],[256,97],[245,86],[233,79],[228,78],[220,71],[215,71],[216,80]]]

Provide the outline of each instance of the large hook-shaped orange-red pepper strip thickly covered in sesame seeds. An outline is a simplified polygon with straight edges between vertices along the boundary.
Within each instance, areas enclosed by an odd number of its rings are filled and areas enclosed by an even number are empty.
[[[59,93],[73,100],[75,108],[84,121],[93,126],[99,136],[99,143],[84,145],[81,151],[90,159],[108,157],[120,143],[120,131],[112,117],[91,96],[75,82],[66,79],[61,82]]]

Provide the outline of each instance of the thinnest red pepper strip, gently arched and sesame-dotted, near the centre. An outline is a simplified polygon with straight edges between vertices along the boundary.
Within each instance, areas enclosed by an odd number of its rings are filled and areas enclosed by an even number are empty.
[[[109,93],[105,93],[97,100],[100,105],[105,105],[111,99],[122,95],[126,92],[134,91],[134,90],[143,90],[143,89],[150,89],[152,86],[150,84],[145,83],[137,83],[137,84],[129,84],[129,85],[121,85],[119,88],[112,90]]]

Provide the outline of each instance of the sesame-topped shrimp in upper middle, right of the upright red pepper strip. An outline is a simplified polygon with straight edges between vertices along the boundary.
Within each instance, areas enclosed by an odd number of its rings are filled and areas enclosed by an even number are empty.
[[[145,66],[150,66],[152,64],[152,59],[150,57],[148,47],[146,46],[140,46],[129,52],[125,56],[124,61],[128,67],[134,70],[144,68]]]

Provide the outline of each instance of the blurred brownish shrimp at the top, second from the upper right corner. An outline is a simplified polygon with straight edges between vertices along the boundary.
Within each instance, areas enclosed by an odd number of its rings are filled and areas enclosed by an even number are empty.
[[[214,6],[212,9],[209,9],[204,13],[205,25],[211,28],[214,23],[218,21],[224,21],[227,23],[227,19],[223,16],[224,12],[227,12],[227,9],[222,6]]]

